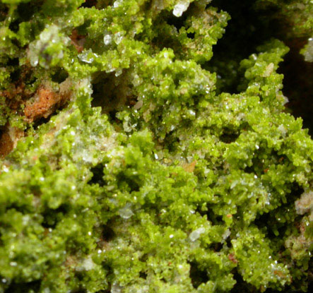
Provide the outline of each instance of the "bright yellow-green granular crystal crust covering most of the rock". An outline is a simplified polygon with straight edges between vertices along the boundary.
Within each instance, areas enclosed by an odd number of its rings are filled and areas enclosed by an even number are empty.
[[[217,95],[211,1],[83,2],[0,4],[0,126],[25,132],[0,161],[0,292],[306,292],[313,141],[285,112],[288,48]]]

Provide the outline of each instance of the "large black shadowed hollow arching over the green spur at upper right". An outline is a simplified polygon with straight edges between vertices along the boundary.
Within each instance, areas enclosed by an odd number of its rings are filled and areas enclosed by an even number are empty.
[[[303,127],[313,135],[313,66],[300,54],[307,37],[290,38],[292,20],[286,18],[278,6],[266,5],[256,10],[256,1],[213,0],[216,6],[230,14],[225,34],[213,47],[213,58],[203,68],[217,74],[217,92],[238,93],[244,72],[240,61],[256,53],[256,48],[271,38],[278,38],[290,47],[290,52],[280,63],[278,73],[284,75],[283,93],[289,99],[286,105],[295,117],[303,119]]]

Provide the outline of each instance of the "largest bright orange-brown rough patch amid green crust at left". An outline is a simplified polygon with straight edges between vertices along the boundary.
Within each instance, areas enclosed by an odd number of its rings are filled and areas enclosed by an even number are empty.
[[[66,83],[66,81],[64,81]],[[61,87],[60,87],[61,88]],[[25,106],[24,114],[28,122],[33,122],[40,118],[47,118],[59,107],[64,106],[71,97],[69,89],[55,92],[47,85],[42,85],[37,89],[34,102]]]

